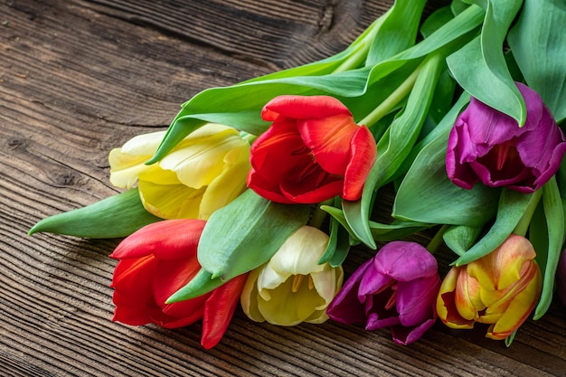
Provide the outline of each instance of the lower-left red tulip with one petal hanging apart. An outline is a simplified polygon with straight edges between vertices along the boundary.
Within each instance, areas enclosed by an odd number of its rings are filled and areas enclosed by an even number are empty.
[[[196,249],[204,224],[195,219],[159,221],[118,244],[110,255],[119,259],[111,286],[116,305],[113,321],[175,328],[202,319],[203,347],[209,349],[220,342],[238,305],[246,275],[201,297],[165,304],[201,269]]]

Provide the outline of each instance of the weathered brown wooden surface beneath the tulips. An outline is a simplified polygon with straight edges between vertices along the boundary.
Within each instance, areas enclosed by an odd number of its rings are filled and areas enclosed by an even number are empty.
[[[108,151],[165,129],[193,94],[338,52],[390,5],[0,2],[0,375],[566,375],[558,304],[510,348],[482,329],[438,324],[403,347],[387,330],[277,327],[238,309],[221,344],[205,351],[200,325],[111,322],[108,253],[118,240],[26,235],[42,217],[116,193]],[[358,251],[346,269],[368,256]]]

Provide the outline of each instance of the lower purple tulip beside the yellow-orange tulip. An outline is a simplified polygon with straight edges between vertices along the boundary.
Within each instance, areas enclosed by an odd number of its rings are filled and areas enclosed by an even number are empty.
[[[366,330],[390,327],[393,341],[410,344],[434,325],[440,278],[436,259],[415,242],[393,241],[346,281],[327,315]]]

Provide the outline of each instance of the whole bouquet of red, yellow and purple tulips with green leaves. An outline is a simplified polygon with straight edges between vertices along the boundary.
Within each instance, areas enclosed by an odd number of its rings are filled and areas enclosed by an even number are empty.
[[[477,322],[510,344],[566,302],[566,9],[454,0],[421,23],[425,3],[397,0],[322,61],[196,94],[166,132],[110,151],[121,193],[30,233],[124,238],[114,320],[202,320],[206,348],[239,303],[399,344]],[[375,255],[344,276],[356,245]]]

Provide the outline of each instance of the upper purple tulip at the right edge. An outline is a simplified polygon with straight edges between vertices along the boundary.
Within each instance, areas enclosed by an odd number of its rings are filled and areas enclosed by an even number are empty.
[[[472,98],[448,138],[446,169],[450,180],[465,189],[476,182],[533,193],[561,165],[566,142],[538,93],[522,83],[527,118],[514,118]]]

